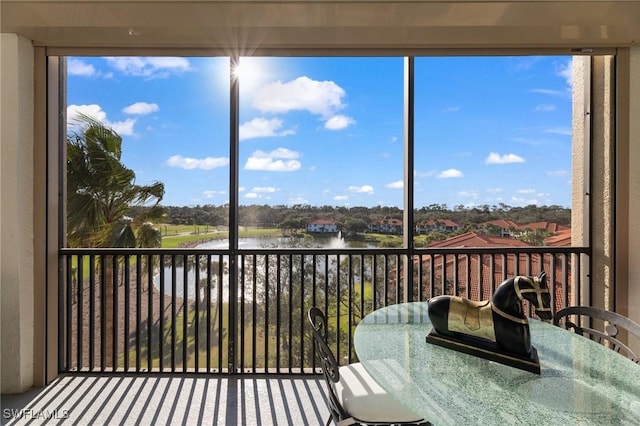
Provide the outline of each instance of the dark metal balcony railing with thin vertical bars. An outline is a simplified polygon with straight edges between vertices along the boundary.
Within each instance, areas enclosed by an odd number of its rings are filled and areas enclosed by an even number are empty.
[[[306,319],[329,318],[339,362],[369,312],[439,294],[489,299],[547,272],[555,309],[579,297],[580,247],[508,249],[61,249],[60,371],[308,373]]]

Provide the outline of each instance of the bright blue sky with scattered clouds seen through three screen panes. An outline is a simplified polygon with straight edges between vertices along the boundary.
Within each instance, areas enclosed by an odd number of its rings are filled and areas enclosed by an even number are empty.
[[[67,118],[123,138],[164,205],[229,200],[229,59],[69,57]],[[403,204],[403,64],[241,58],[241,204]],[[570,57],[415,59],[415,206],[571,203]]]

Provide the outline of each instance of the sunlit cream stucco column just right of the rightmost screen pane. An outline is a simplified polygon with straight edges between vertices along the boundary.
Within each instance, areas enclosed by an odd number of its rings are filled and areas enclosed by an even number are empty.
[[[614,308],[613,56],[573,58],[571,240],[591,245],[591,275],[581,274],[580,299],[570,304]],[[575,265],[574,265],[575,267]]]

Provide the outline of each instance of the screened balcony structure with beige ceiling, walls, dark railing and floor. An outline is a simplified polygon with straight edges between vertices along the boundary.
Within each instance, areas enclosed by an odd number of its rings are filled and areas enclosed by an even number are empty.
[[[489,298],[518,273],[547,271],[555,310],[582,302],[638,321],[637,3],[185,3],[2,4],[3,422],[324,423],[324,383],[304,316],[314,303],[334,318],[341,362],[357,359],[351,333],[372,310],[440,293]],[[212,49],[584,55],[573,87],[574,247],[58,250],[50,160],[58,148],[47,141],[60,135],[47,121],[58,106],[46,87],[55,80],[49,58]]]

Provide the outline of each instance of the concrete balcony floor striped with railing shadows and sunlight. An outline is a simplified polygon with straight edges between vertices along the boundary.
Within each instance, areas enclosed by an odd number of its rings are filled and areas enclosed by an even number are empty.
[[[2,395],[3,425],[324,425],[320,375],[68,375]]]

